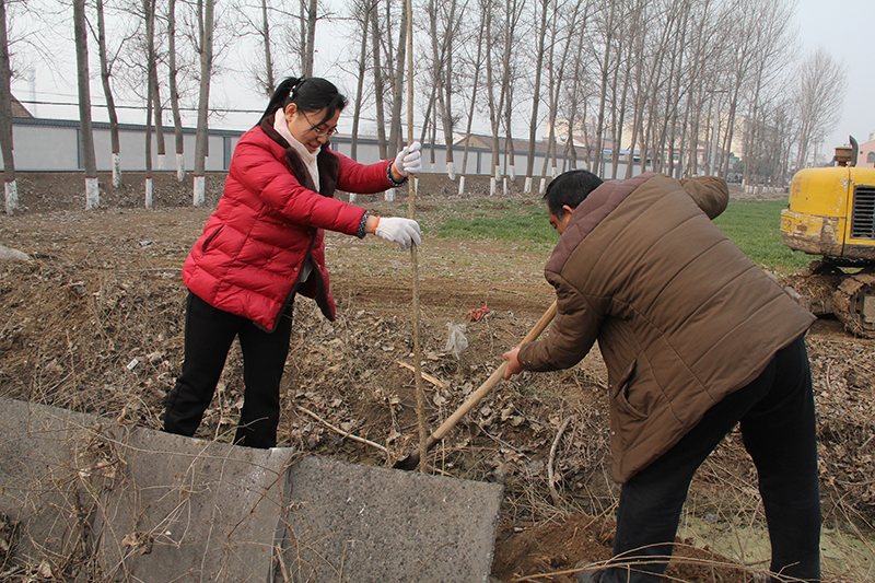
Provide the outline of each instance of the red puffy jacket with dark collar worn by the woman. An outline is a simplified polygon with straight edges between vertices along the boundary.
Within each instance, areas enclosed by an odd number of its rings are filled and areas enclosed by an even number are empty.
[[[303,161],[284,144],[266,121],[241,137],[215,212],[183,266],[183,282],[198,298],[268,330],[293,292],[315,298],[335,319],[324,230],[355,235],[365,211],[331,197],[336,189],[368,194],[392,187],[388,162],[362,165],[325,144],[316,193]],[[312,271],[302,284],[305,260]]]

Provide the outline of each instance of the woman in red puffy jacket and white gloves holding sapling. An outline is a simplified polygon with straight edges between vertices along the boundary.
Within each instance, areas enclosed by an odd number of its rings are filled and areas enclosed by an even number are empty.
[[[167,395],[165,431],[194,435],[237,337],[245,395],[234,443],[275,446],[295,294],[315,299],[335,319],[325,230],[373,233],[401,249],[420,244],[416,221],[375,217],[332,198],[337,189],[401,186],[421,168],[417,142],[371,165],[332,151],[328,139],[346,105],[329,81],[289,78],[237,142],[222,198],[183,266],[190,292],[185,361]]]

